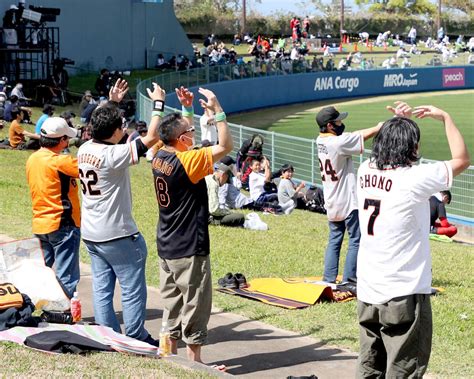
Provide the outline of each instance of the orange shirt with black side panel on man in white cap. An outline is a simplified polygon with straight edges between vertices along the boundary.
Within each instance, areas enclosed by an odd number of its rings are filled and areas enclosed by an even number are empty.
[[[48,234],[66,225],[80,227],[76,158],[41,148],[28,158],[26,177],[33,204],[33,233]]]

